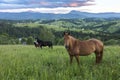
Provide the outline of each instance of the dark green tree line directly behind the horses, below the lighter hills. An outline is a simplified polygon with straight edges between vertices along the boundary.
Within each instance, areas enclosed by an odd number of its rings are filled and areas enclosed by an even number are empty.
[[[33,44],[35,38],[38,37],[41,40],[50,40],[54,45],[63,45],[64,30],[48,29],[44,25],[32,28],[29,26],[16,27],[13,23],[15,22],[0,20],[0,44]],[[119,34],[115,35],[102,31],[85,33],[82,30],[75,31],[69,29],[68,31],[80,40],[97,38],[102,40],[106,45],[120,44]]]

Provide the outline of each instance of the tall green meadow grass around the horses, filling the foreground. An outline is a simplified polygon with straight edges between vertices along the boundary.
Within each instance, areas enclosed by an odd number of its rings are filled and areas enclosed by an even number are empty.
[[[69,64],[63,46],[0,45],[0,80],[120,80],[120,46],[106,46],[102,63],[95,55]]]

